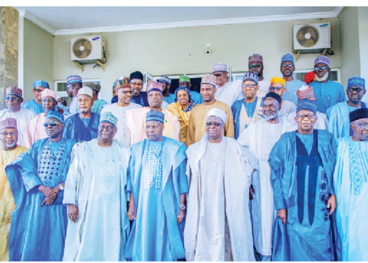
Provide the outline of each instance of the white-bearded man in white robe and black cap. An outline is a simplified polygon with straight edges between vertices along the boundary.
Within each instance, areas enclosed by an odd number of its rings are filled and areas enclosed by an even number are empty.
[[[268,157],[281,134],[288,132],[290,126],[285,117],[278,116],[281,102],[280,95],[268,92],[262,108],[265,118],[251,123],[237,139],[258,161],[259,169],[252,175],[250,194],[253,240],[262,261],[271,260],[272,228],[276,218]]]

